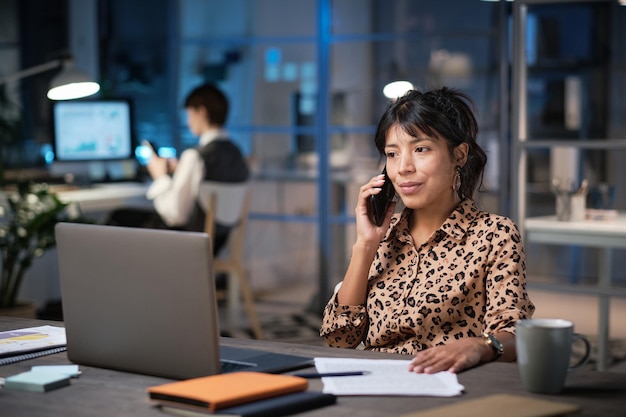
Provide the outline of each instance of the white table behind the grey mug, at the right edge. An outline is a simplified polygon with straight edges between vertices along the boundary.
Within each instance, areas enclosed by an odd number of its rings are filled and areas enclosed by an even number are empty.
[[[556,216],[531,217],[524,222],[526,240],[556,245],[591,246],[600,249],[598,285],[575,292],[598,296],[598,370],[606,370],[609,346],[609,303],[611,296],[626,296],[626,291],[611,288],[611,249],[626,249],[626,213],[616,220],[561,222]],[[546,288],[550,289],[550,288]],[[563,290],[562,286],[552,288]]]

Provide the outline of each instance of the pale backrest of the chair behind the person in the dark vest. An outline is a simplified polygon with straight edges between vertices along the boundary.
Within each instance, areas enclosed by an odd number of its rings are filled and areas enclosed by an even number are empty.
[[[248,183],[225,184],[204,182],[199,190],[200,205],[205,212],[204,231],[214,236],[215,222],[233,226],[228,238],[231,255],[241,252],[248,210],[250,207],[250,187]],[[233,251],[234,248],[239,250]]]

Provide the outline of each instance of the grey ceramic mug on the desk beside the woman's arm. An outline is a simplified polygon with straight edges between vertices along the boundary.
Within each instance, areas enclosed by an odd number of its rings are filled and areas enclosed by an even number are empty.
[[[578,339],[585,344],[585,354],[570,366],[572,344]],[[591,353],[589,340],[574,333],[574,323],[562,319],[519,320],[515,347],[524,388],[540,394],[561,392],[567,372],[587,363]]]

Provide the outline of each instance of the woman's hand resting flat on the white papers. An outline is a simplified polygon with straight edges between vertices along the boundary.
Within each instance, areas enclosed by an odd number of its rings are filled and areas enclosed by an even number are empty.
[[[409,371],[418,374],[457,373],[478,365],[490,354],[493,354],[491,348],[482,337],[468,337],[418,352],[411,360]]]

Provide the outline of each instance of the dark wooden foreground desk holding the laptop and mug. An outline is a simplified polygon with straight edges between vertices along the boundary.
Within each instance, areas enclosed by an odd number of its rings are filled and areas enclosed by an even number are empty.
[[[59,325],[54,322],[0,317],[0,330],[42,324]],[[254,347],[314,357],[406,359],[399,355],[257,340],[223,338],[222,343],[228,346]],[[45,356],[0,366],[0,376],[24,372],[33,365],[67,363],[69,362],[65,354]],[[166,415],[150,406],[146,388],[168,380],[88,366],[81,366],[81,370],[82,375],[72,380],[71,386],[45,394],[0,390],[0,415],[11,417],[163,417]],[[623,416],[626,408],[626,374],[598,372],[589,368],[570,373],[564,392],[556,396],[527,393],[522,387],[515,363],[490,363],[463,372],[459,375],[459,382],[465,386],[465,393],[460,397],[339,397],[336,405],[309,411],[306,415],[310,417],[391,417],[497,393],[578,404],[582,407],[582,411],[577,416]],[[319,380],[311,380],[309,387],[310,390],[321,391],[322,383]]]

